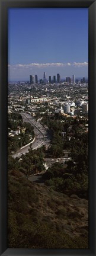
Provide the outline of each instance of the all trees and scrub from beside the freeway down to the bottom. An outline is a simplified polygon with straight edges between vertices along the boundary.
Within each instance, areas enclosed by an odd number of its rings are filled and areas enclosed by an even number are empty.
[[[30,146],[20,159],[8,155],[8,247],[88,248],[87,121],[42,121],[52,133],[49,149]],[[44,158],[64,158],[65,150],[70,161],[45,172]],[[40,172],[43,185],[28,180]]]

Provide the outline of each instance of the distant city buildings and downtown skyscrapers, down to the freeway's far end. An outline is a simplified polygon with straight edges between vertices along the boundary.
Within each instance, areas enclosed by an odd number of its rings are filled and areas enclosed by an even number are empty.
[[[47,109],[46,109],[47,103]],[[42,109],[43,108],[43,109]],[[38,81],[37,75],[30,75],[30,82],[8,83],[8,113],[26,111],[32,116],[36,113],[61,113],[66,116],[88,114],[88,79],[75,79],[75,75],[60,79],[49,76]]]

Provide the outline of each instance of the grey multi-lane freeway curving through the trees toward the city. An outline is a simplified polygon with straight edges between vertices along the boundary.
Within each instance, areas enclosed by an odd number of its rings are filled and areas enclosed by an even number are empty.
[[[49,146],[50,145],[50,133],[49,130],[44,128],[39,121],[36,121],[34,117],[30,116],[30,114],[23,113],[21,114],[23,117],[23,121],[30,123],[31,126],[34,126],[34,134],[35,139],[32,144],[33,149],[40,148],[41,146]],[[28,153],[28,149],[30,148],[30,145],[24,146],[24,148],[19,149],[14,155],[12,155],[13,158],[20,158],[22,154]]]

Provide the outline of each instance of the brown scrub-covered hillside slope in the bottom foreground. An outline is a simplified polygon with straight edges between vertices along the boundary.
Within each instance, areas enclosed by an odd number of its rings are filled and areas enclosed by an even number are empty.
[[[9,248],[88,248],[88,201],[8,174]]]

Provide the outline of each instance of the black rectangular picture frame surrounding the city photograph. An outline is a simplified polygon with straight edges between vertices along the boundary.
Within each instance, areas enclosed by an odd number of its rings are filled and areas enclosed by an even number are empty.
[[[88,8],[89,11],[89,248],[88,249],[8,249],[7,247],[7,78],[8,78],[8,8],[24,7],[68,7]],[[96,155],[96,1],[94,0],[62,0],[62,1],[31,1],[11,0],[0,1],[0,25],[1,25],[1,91],[0,91],[0,212],[1,212],[1,233],[0,233],[0,255],[96,255],[96,204],[95,204],[95,155]]]

